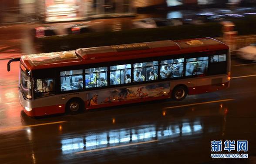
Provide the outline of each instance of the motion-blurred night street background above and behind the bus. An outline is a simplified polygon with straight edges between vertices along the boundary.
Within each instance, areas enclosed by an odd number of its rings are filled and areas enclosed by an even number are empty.
[[[166,39],[214,37],[234,51],[255,42],[256,0],[1,0],[0,3],[0,59]]]

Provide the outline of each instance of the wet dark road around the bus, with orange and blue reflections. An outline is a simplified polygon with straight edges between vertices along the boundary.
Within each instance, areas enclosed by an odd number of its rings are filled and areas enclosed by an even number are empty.
[[[9,73],[6,63],[0,60],[1,164],[256,164],[255,63],[233,59],[227,90],[182,102],[162,100],[39,119],[21,111],[18,63]],[[248,140],[249,159],[212,160],[213,140]]]

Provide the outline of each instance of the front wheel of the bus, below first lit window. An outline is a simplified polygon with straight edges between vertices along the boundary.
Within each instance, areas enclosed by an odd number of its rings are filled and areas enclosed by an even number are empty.
[[[67,102],[66,112],[69,114],[81,113],[84,109],[84,102],[80,98],[73,98]]]

